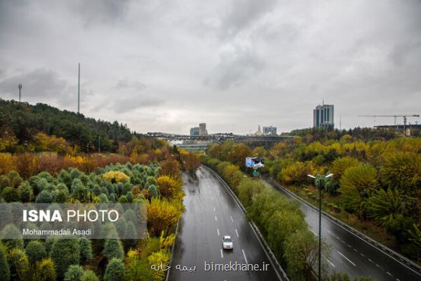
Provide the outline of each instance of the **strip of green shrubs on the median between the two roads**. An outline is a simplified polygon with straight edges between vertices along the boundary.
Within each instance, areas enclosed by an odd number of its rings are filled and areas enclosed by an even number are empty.
[[[319,246],[305,222],[298,202],[288,200],[279,192],[267,188],[263,181],[245,177],[239,166],[231,162],[222,162],[204,155],[201,155],[201,162],[228,183],[246,209],[248,219],[258,226],[276,259],[286,268],[290,279],[314,280],[312,270],[317,263]],[[322,253],[327,258],[330,253],[324,242]],[[346,273],[328,275],[326,269],[325,263],[323,280],[349,280]],[[371,279],[361,277],[356,280]]]

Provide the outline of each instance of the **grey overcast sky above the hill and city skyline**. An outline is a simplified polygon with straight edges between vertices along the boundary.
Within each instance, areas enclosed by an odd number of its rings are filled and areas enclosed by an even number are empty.
[[[0,0],[0,98],[138,132],[393,124],[421,114],[421,1]],[[420,118],[409,119],[421,123]]]

